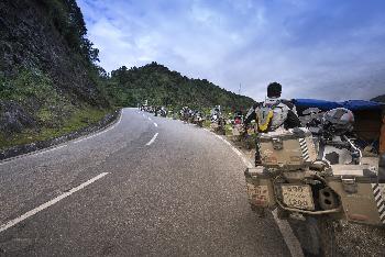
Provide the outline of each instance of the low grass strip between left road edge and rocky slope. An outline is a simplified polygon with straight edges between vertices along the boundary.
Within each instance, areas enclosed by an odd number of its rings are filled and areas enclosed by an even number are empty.
[[[92,108],[85,108],[76,110],[69,119],[67,119],[59,128],[43,127],[40,131],[25,130],[22,133],[6,136],[0,134],[0,149],[6,149],[12,146],[30,144],[38,141],[52,139],[70,132],[84,128],[90,124],[99,122],[106,114],[112,110],[98,110]],[[42,115],[50,115],[44,112]]]

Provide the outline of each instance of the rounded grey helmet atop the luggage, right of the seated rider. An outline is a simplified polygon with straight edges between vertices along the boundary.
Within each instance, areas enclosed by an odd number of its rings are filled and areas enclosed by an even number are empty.
[[[343,135],[353,130],[354,114],[345,108],[336,108],[323,114],[322,127],[331,135]]]

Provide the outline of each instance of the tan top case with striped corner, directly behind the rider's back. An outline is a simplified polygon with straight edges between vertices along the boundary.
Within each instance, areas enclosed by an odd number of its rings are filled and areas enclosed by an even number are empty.
[[[311,132],[305,127],[261,133],[257,148],[266,168],[296,170],[308,167],[317,159]]]

